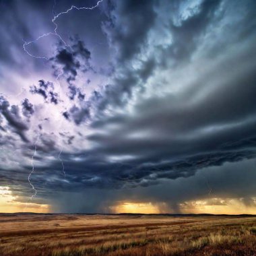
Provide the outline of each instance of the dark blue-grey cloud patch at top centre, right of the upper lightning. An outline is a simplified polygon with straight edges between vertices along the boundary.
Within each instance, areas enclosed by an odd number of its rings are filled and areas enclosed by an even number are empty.
[[[119,61],[127,61],[139,53],[146,42],[146,36],[154,24],[157,1],[113,1],[109,22],[105,24],[106,33],[110,35],[110,45],[115,47]],[[143,13],[143,15],[141,15]]]

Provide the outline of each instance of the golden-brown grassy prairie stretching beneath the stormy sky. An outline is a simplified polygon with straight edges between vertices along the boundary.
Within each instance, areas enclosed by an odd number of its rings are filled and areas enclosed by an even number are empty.
[[[1,214],[0,255],[256,255],[256,218]]]

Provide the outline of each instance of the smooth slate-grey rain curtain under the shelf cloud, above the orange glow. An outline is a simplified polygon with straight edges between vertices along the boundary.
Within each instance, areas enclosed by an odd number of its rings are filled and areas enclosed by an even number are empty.
[[[180,213],[180,202],[215,198],[212,205],[220,205],[220,199],[239,199],[248,205],[255,196],[255,160],[224,164],[201,169],[192,177],[176,180],[162,179],[158,185],[119,189],[84,187],[82,193],[57,193],[54,201],[56,212],[112,212],[111,205],[120,201],[151,202],[163,213]],[[80,198],[81,200],[77,200]],[[84,203],[81,203],[84,202]],[[228,200],[226,200],[228,201]],[[59,202],[59,203],[58,203]],[[73,202],[73,203],[70,203]],[[163,204],[164,203],[164,204]],[[222,201],[222,204],[228,204]]]

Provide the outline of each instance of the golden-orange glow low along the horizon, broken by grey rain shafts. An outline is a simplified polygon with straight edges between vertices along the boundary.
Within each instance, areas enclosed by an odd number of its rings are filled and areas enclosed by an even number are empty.
[[[243,198],[213,197],[184,201],[178,206],[181,214],[256,214],[256,197],[252,197],[249,204]],[[177,214],[165,202],[119,201],[108,209],[114,214]],[[10,187],[0,186],[0,212],[49,213],[51,205],[35,201],[26,203],[13,195]]]

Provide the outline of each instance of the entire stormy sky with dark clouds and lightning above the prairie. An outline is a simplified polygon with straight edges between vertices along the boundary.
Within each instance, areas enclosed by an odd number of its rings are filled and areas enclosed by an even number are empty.
[[[1,0],[0,212],[256,214],[255,11]]]

